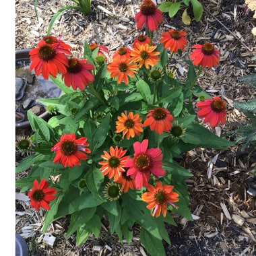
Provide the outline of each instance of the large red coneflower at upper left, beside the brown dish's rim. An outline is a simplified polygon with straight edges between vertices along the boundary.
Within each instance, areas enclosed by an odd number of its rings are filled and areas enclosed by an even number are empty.
[[[34,69],[36,75],[49,79],[50,75],[57,77],[58,73],[66,73],[67,57],[59,44],[46,44],[44,40],[38,43],[38,47],[30,51],[30,71]]]

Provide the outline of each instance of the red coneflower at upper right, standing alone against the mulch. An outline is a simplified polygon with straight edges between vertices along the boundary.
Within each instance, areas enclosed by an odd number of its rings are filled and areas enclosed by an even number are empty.
[[[214,44],[210,42],[206,42],[205,44],[195,44],[193,48],[194,50],[190,59],[194,59],[193,64],[196,66],[202,66],[212,68],[213,66],[217,66],[220,62],[220,51],[215,49]]]

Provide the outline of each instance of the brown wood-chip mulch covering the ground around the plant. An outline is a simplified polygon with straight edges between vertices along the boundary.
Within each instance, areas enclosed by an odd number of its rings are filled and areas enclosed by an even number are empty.
[[[36,46],[40,38],[46,35],[54,13],[64,5],[73,5],[71,1],[38,0],[37,21],[33,2],[15,1],[16,49]],[[139,34],[133,18],[139,9],[139,3],[137,0],[93,1],[92,15],[89,17],[69,9],[55,24],[53,34],[62,35],[63,40],[74,47],[73,53],[77,57],[82,57],[85,39],[88,42],[104,44],[113,53],[119,46],[131,45],[133,38]],[[212,41],[220,49],[220,66],[205,70],[199,84],[212,95],[223,96],[227,102],[228,123],[222,129],[213,130],[223,136],[232,128],[234,122],[245,119],[242,113],[234,109],[232,101],[249,100],[256,96],[255,90],[237,80],[238,77],[255,71],[256,65],[251,57],[256,54],[256,48],[253,48],[255,38],[251,29],[256,24],[252,18],[253,13],[245,13],[244,0],[202,0],[201,3],[205,9],[203,20],[193,21],[191,26],[185,26],[181,22],[182,12],[172,19],[165,13],[158,38],[170,26],[186,30],[189,49],[183,58],[189,57],[191,46],[195,43]],[[111,14],[102,11],[101,7]],[[181,79],[185,77],[187,66],[181,57],[177,57],[172,66],[177,69],[177,75]],[[17,130],[16,134],[30,132],[29,129]],[[216,162],[214,161],[215,164],[210,164],[217,154],[219,155]],[[20,162],[22,157],[17,152],[16,162]],[[179,226],[168,227],[172,245],[165,245],[167,255],[256,255],[256,203],[255,198],[247,194],[248,185],[245,181],[255,162],[255,156],[248,157],[237,147],[232,147],[228,152],[198,148],[184,156],[181,164],[194,174],[187,183],[191,193],[191,212],[197,216],[197,220],[190,222],[174,216]],[[24,175],[26,172],[18,176]],[[224,205],[230,216],[223,210]],[[16,232],[24,233],[22,228],[34,225],[32,232],[28,233],[30,237],[26,238],[30,255],[145,255],[139,243],[138,227],[134,230],[133,243],[121,245],[117,236],[110,236],[107,223],[104,223],[99,239],[92,237],[86,245],[77,248],[75,236],[65,239],[69,218],[62,218],[54,222],[48,230],[56,237],[55,244],[51,247],[42,243],[44,212],[36,212],[30,208],[28,202],[17,200],[16,212]]]

